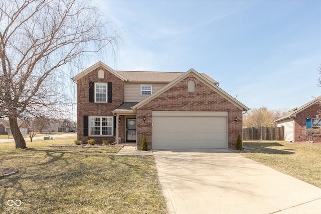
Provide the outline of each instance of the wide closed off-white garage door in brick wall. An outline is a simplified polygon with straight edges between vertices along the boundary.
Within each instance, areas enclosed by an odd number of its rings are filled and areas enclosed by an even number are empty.
[[[227,112],[152,112],[153,149],[228,148]]]

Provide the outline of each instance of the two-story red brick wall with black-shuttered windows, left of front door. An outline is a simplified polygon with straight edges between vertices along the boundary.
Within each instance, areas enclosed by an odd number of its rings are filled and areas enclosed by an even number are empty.
[[[104,79],[98,79],[98,70],[103,69]],[[90,103],[89,82],[112,82],[112,103]],[[112,110],[116,109],[124,101],[124,82],[112,73],[99,67],[77,81],[77,139],[87,142],[88,139],[95,139],[96,143],[102,140],[114,142],[115,137],[85,137],[83,116],[113,116]],[[118,121],[116,121],[118,123]]]

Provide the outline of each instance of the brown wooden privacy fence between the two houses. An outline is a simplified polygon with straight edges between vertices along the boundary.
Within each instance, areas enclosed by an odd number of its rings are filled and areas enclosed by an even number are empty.
[[[243,128],[243,140],[284,140],[284,126]]]

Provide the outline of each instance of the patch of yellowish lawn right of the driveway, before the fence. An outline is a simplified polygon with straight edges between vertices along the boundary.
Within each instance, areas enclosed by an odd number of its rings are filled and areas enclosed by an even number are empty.
[[[321,188],[321,144],[291,144],[286,141],[244,141],[260,150],[241,155]]]

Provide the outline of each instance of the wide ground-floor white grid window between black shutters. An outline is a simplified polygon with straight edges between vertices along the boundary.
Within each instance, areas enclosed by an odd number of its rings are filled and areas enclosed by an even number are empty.
[[[112,136],[113,117],[90,117],[90,135]]]

